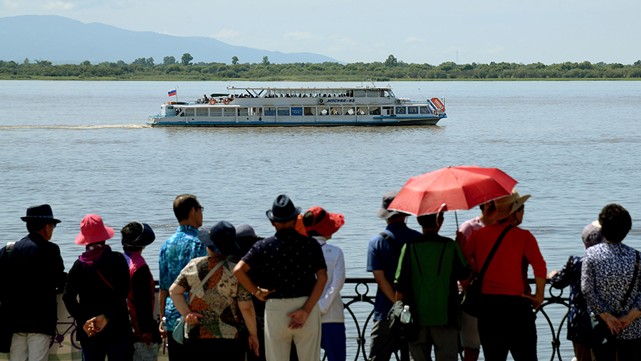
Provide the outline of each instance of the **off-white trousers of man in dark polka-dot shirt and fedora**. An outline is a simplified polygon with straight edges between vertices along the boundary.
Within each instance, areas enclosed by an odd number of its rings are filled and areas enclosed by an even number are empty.
[[[302,308],[307,297],[269,298],[265,305],[265,356],[267,361],[289,360],[291,342],[296,344],[298,361],[320,360],[320,308],[314,305],[305,325],[288,328],[287,314]]]

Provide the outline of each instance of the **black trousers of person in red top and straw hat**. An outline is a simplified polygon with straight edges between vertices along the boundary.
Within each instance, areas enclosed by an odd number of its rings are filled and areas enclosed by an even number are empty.
[[[486,295],[481,298],[479,335],[485,360],[536,361],[536,315],[532,302],[518,295]]]

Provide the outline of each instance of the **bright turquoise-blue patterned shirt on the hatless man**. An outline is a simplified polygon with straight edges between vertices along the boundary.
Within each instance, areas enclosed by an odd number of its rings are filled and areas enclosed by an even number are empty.
[[[202,256],[207,256],[207,247],[198,239],[198,229],[193,226],[179,226],[176,233],[160,248],[160,289],[169,291],[182,268],[193,258]],[[189,293],[185,293],[185,298],[188,297]],[[167,297],[165,317],[167,330],[173,331],[180,313],[170,297]]]

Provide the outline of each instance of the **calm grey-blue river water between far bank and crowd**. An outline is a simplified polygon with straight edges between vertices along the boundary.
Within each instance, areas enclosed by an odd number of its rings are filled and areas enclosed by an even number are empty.
[[[229,84],[179,83],[179,100]],[[404,98],[446,98],[448,118],[426,127],[145,127],[176,85],[0,81],[4,240],[26,234],[19,217],[28,206],[51,204],[63,220],[53,241],[70,268],[83,251],[73,239],[85,214],[100,214],[117,230],[145,221],[157,241],[143,255],[157,278],[158,250],[177,226],[177,194],[197,195],[204,226],[246,222],[269,236],[265,211],[286,193],[303,209],[323,206],[345,214],[345,226],[331,242],[345,252],[348,277],[370,276],[368,239],[385,228],[375,217],[382,195],[418,174],[476,164],[499,167],[519,182],[521,194],[532,194],[522,226],[536,236],[548,271],[583,253],[583,226],[610,202],[630,211],[625,243],[641,248],[641,82],[392,83]],[[459,224],[478,213],[458,211]],[[408,223],[419,228],[414,218]],[[456,228],[454,213],[447,214],[442,234],[453,237]],[[120,242],[111,244],[118,248]],[[549,357],[548,347],[539,343],[542,358]],[[569,350],[564,360],[570,360]]]

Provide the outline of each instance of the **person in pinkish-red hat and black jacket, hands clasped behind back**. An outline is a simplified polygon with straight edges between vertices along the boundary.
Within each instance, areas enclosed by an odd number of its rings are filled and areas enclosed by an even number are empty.
[[[75,237],[85,252],[69,271],[63,301],[78,323],[84,361],[123,360],[130,342],[129,268],[123,253],[105,244],[113,235],[100,216],[88,214]]]

